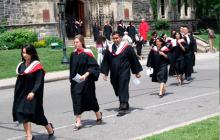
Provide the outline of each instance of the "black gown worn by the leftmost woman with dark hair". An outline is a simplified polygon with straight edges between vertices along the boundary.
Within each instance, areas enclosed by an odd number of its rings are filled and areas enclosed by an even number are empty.
[[[27,121],[46,126],[48,121],[43,109],[44,71],[39,69],[33,73],[24,74],[27,67],[22,63],[18,67],[18,77],[15,84],[13,121]],[[28,93],[34,93],[34,99],[27,101]]]

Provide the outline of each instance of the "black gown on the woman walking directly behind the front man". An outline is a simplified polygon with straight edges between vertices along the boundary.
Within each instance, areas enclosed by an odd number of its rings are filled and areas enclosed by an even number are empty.
[[[167,54],[168,59],[159,55],[159,50]],[[166,46],[157,49],[157,46],[154,46],[147,59],[147,67],[153,68],[154,72],[152,74],[152,82],[163,82],[166,83],[168,79],[168,64],[170,58],[169,49]]]

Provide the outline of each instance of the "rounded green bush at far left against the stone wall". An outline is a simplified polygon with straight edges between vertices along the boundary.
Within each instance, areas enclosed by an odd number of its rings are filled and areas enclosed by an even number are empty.
[[[25,44],[37,41],[37,33],[27,29],[15,29],[0,34],[1,49],[20,49]]]

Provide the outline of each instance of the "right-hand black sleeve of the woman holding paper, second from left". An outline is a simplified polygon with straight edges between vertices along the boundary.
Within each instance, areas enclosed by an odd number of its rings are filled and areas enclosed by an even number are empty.
[[[88,72],[90,73],[89,78],[97,81],[99,79],[100,68],[95,58],[88,56]]]

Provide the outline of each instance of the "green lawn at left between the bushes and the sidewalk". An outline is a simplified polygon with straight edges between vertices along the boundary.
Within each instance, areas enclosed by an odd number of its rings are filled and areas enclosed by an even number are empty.
[[[69,58],[73,48],[67,48],[67,56]],[[15,77],[15,69],[21,61],[20,49],[0,50],[0,79]],[[95,49],[92,49],[94,52]],[[38,48],[40,61],[46,72],[67,70],[69,65],[61,64],[63,58],[62,49],[55,50],[50,48]],[[97,54],[94,52],[95,56]]]

